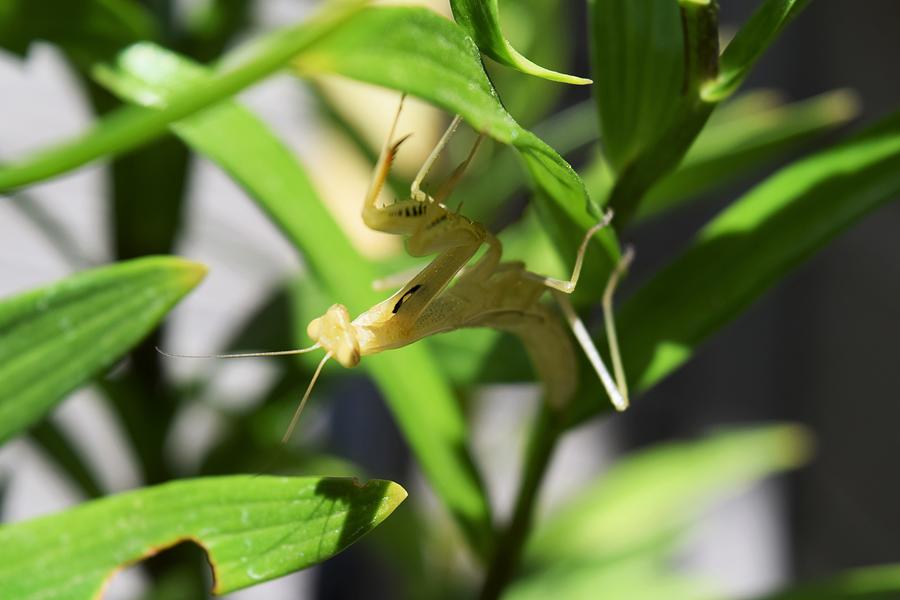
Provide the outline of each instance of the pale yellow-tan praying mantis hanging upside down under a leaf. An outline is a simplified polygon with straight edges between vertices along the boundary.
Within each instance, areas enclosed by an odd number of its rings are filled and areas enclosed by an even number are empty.
[[[282,442],[291,437],[300,413],[329,360],[334,359],[342,366],[352,368],[359,364],[363,356],[467,327],[490,327],[517,336],[543,382],[548,404],[561,408],[575,393],[576,359],[560,318],[540,302],[544,293],[549,291],[613,405],[617,410],[625,410],[628,407],[628,389],[612,316],[612,297],[632,260],[631,249],[622,255],[613,269],[603,293],[604,320],[615,377],[610,375],[568,299],[568,294],[578,284],[588,242],[597,231],[609,225],[612,213],[607,212],[585,233],[568,280],[532,273],[522,262],[501,262],[503,249],[500,241],[480,223],[461,215],[458,210],[451,211],[444,204],[471,163],[483,136],[477,137],[468,156],[433,196],[422,190],[422,182],[456,131],[461,121],[459,116],[453,119],[423,163],[410,186],[409,198],[379,204],[378,198],[393,159],[408,137],[394,140],[402,108],[401,98],[363,201],[362,218],[371,229],[406,236],[407,251],[412,256],[436,255],[431,263],[389,298],[355,319],[351,319],[344,305],[332,305],[324,315],[309,323],[307,334],[314,343],[307,348],[193,357],[285,356],[324,350],[325,355],[294,412]],[[484,254],[469,265],[483,246],[486,246]]]

